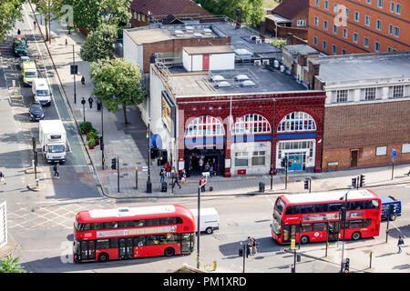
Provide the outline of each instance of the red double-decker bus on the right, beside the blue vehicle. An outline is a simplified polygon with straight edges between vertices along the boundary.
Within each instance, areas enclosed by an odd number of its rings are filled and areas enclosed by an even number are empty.
[[[378,236],[382,201],[371,190],[283,195],[273,207],[271,233],[280,244],[332,241],[343,237],[341,208],[346,207],[345,239]]]

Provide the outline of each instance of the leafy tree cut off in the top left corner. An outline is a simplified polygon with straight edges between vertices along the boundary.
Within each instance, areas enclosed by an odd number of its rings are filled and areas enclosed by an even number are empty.
[[[17,20],[22,20],[21,5],[25,0],[1,0],[0,1],[0,44],[3,43],[5,35],[15,27]]]

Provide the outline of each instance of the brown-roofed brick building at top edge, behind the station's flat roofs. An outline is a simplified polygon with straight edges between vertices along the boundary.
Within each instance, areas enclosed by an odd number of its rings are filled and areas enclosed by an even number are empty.
[[[203,16],[211,15],[209,11],[192,0],[134,0],[129,12],[128,26],[140,27],[149,25],[150,19],[160,21],[168,15]]]

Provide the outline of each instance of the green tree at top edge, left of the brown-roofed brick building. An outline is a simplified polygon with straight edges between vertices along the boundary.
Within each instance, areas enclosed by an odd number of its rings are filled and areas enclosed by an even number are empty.
[[[62,0],[73,7],[73,21],[76,28],[94,31],[101,23],[119,25],[128,23],[131,14],[128,8],[132,0]]]

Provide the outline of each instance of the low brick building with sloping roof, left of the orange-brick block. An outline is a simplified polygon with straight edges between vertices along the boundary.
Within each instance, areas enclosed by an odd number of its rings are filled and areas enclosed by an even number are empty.
[[[308,36],[309,0],[283,0],[265,16],[266,30],[275,37],[292,33],[304,40]]]

